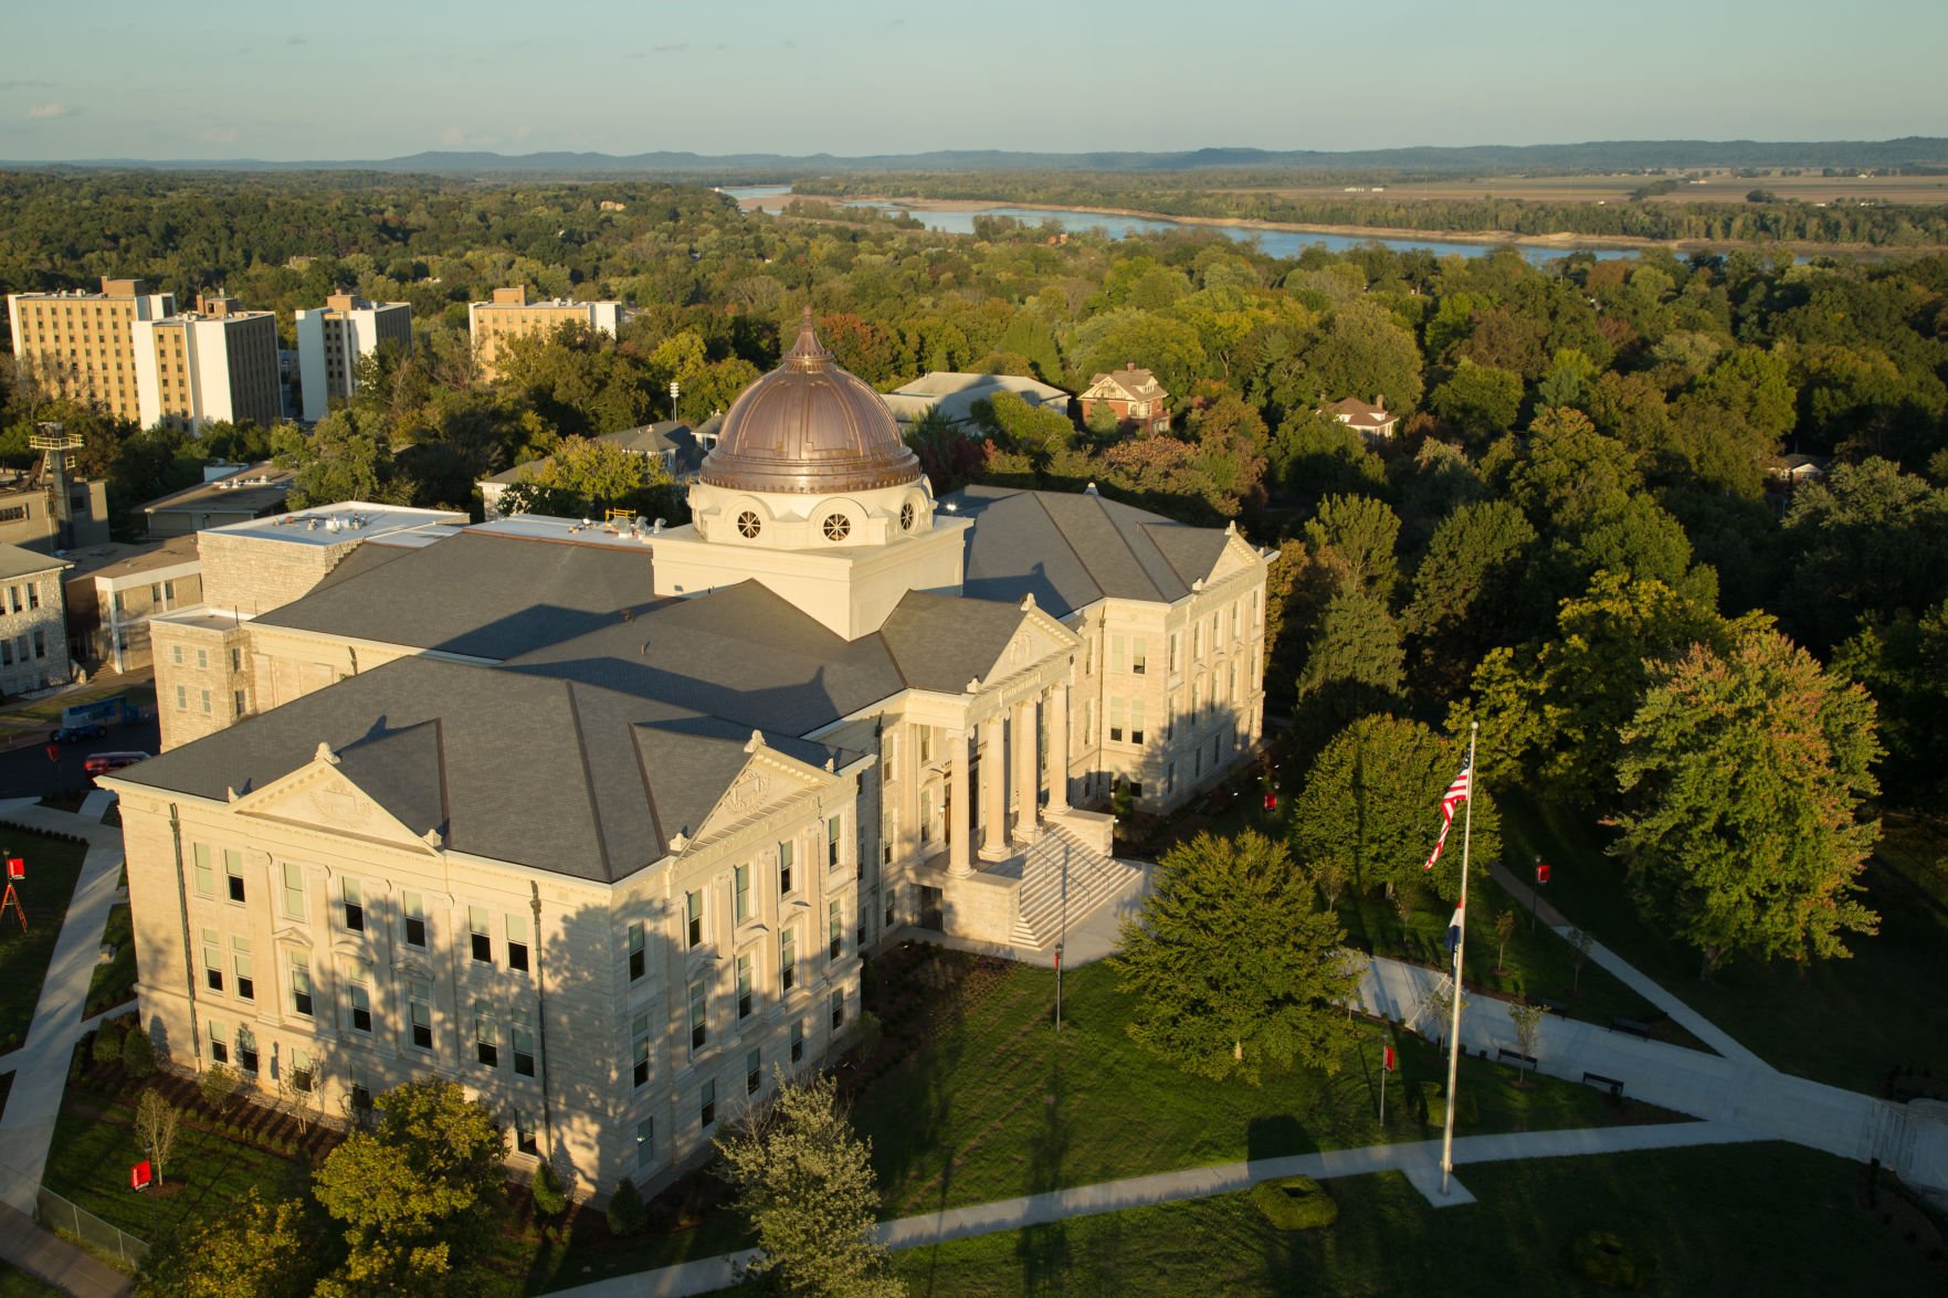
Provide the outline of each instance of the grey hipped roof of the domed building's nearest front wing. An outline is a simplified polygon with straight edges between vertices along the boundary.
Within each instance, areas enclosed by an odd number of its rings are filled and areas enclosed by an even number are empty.
[[[222,799],[310,764],[339,772],[415,834],[577,879],[616,881],[695,834],[744,768],[752,727],[561,680],[399,659],[121,772]],[[766,743],[812,766],[832,748]]]

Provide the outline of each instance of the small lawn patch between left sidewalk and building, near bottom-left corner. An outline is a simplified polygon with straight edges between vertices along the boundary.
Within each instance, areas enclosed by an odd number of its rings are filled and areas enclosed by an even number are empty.
[[[267,1203],[300,1195],[300,1162],[245,1148],[191,1128],[177,1136],[166,1167],[181,1189],[158,1197],[129,1189],[129,1167],[142,1160],[132,1113],[101,1095],[68,1091],[47,1152],[45,1185],[129,1234],[156,1243],[185,1222],[222,1214],[244,1191],[257,1187]]]

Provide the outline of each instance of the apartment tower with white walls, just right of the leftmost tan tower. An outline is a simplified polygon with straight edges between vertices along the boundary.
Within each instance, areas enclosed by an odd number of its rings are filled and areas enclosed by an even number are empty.
[[[214,419],[269,427],[282,415],[271,312],[245,312],[236,298],[197,294],[197,310],[136,320],[131,329],[142,427],[166,419],[191,429]]]

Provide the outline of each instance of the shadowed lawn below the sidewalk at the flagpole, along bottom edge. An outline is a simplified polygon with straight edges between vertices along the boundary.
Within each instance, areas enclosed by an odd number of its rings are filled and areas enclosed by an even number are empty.
[[[1601,1294],[1570,1243],[1656,1255],[1646,1294],[1940,1294],[1944,1275],[1854,1204],[1858,1169],[1788,1144],[1463,1167],[1479,1203],[1430,1208],[1399,1173],[1327,1181],[1340,1218],[1272,1230],[1247,1195],[1134,1208],[894,1253],[914,1298],[1019,1294]]]

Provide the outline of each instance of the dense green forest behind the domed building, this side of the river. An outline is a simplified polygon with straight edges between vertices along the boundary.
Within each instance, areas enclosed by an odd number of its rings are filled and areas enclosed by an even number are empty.
[[[810,304],[840,361],[882,390],[925,370],[1071,392],[1124,363],[1155,370],[1177,411],[1165,437],[997,398],[980,437],[923,425],[916,442],[943,489],[1095,481],[1282,546],[1268,688],[1301,760],[1375,713],[1479,717],[1525,783],[1623,815],[1623,731],[1650,690],[1691,688],[1660,684],[1646,661],[1704,647],[1716,657],[1701,680],[1800,680],[1763,639],[1775,626],[1819,670],[1872,690],[1888,795],[1940,791],[1942,255],[1274,259],[1198,232],[1054,244],[999,220],[964,238],[816,209],[744,216],[709,191],[621,183],[10,177],[0,195],[6,290],[117,273],[185,296],[226,283],[281,314],[337,285],[415,302],[413,353],[370,364],[358,398],[308,437],[191,440],[10,388],[0,458],[25,460],[33,419],[66,417],[123,507],[212,454],[277,452],[304,499],[427,505],[468,505],[481,476],[557,454],[547,509],[625,501],[676,516],[668,483],[618,476],[567,439],[668,415],[672,380],[686,419],[723,409]],[[508,283],[637,314],[619,339],[532,339],[483,384],[466,300]],[[1371,446],[1317,413],[1344,396],[1383,398],[1401,435]],[[1831,456],[1831,472],[1788,495],[1769,483],[1780,452]],[[1662,770],[1632,760],[1650,772],[1640,782]]]

